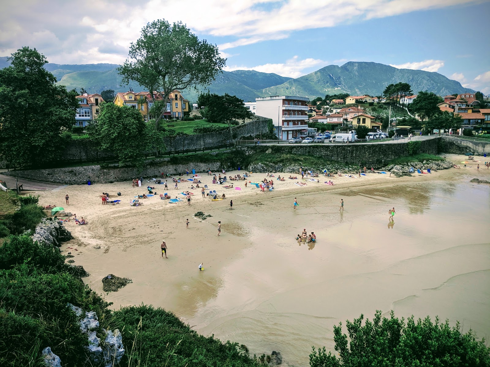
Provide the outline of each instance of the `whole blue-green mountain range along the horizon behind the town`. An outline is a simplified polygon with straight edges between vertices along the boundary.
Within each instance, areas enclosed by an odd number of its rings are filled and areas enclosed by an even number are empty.
[[[0,57],[0,69],[9,65],[6,57]],[[100,93],[112,89],[126,92],[144,88],[137,83],[122,86],[116,64],[60,65],[46,64],[45,68],[58,79],[58,84],[67,89],[85,88],[89,93]],[[317,71],[289,78],[274,73],[255,70],[223,71],[208,87],[182,91],[184,96],[195,102],[200,92],[209,90],[217,94],[235,94],[246,101],[269,95],[300,95],[313,99],[325,94],[349,93],[351,95],[380,95],[389,84],[409,83],[414,93],[435,92],[439,95],[475,92],[464,88],[458,81],[451,80],[438,72],[412,69],[397,69],[389,65],[350,61],[342,66],[329,65]]]

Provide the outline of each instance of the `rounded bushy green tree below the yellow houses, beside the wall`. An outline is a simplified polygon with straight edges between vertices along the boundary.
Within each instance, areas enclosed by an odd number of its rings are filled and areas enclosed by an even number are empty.
[[[114,103],[101,104],[89,134],[101,149],[117,156],[120,164],[142,167],[145,152],[164,148],[165,132],[156,131],[152,123],[146,123],[138,110]]]

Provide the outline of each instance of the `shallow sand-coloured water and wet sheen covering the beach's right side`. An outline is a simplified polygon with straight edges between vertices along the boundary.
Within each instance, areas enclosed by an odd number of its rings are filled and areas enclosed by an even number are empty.
[[[175,313],[252,353],[279,350],[285,366],[307,366],[312,345],[333,351],[333,325],[377,309],[459,320],[488,339],[487,185],[397,184],[298,199],[297,210],[288,194],[223,210],[223,232],[251,246],[218,274],[177,284]],[[317,234],[315,246],[294,240],[303,228]]]

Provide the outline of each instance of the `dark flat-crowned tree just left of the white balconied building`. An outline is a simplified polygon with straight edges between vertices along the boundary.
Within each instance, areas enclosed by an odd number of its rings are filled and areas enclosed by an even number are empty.
[[[214,93],[201,93],[197,98],[197,105],[204,107],[201,112],[209,122],[227,123],[230,131],[230,139],[234,141],[231,125],[234,121],[252,118],[253,113],[245,108],[243,99],[236,95],[224,95]]]

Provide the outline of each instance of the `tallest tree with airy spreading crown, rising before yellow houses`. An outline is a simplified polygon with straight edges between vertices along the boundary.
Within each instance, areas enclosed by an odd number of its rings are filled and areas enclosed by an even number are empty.
[[[157,129],[172,91],[210,84],[225,62],[216,45],[200,41],[181,22],[170,24],[162,19],[142,29],[141,37],[131,43],[129,57],[118,70],[125,83],[133,80],[150,93],[163,92],[164,100],[155,103],[159,107]]]

